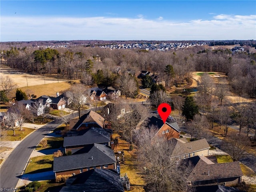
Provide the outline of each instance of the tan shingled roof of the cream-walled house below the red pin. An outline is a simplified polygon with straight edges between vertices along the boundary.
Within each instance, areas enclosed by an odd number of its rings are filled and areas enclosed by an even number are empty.
[[[186,155],[205,149],[210,149],[210,146],[205,138],[191,142],[183,142],[180,139],[175,139],[177,140],[177,143],[173,150],[172,157]]]

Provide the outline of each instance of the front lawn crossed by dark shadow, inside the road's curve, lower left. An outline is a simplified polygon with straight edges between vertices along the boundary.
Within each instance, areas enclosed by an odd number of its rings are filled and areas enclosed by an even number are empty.
[[[43,155],[30,158],[32,162],[28,163],[25,173],[40,173],[51,171],[53,169],[53,155]]]

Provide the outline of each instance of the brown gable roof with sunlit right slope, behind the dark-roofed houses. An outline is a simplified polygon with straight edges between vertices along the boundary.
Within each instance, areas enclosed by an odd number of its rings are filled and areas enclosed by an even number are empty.
[[[96,123],[101,128],[104,128],[105,122],[104,118],[100,114],[90,110],[88,113],[82,115],[78,122],[74,125],[72,129],[77,130],[83,123]]]

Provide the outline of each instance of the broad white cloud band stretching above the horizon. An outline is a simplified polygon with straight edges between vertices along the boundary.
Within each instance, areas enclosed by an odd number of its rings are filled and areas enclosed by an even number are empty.
[[[116,17],[1,17],[1,41],[31,40],[248,40],[256,15],[217,15],[177,22]]]

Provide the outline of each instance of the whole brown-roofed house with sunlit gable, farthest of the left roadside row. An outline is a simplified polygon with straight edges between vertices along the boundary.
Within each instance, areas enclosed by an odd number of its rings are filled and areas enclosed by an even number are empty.
[[[69,122],[70,129],[80,131],[89,127],[105,127],[105,119],[100,114],[90,110],[88,113],[81,116],[80,119],[72,119]]]

